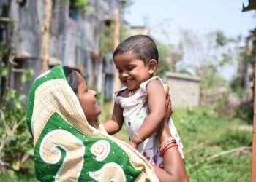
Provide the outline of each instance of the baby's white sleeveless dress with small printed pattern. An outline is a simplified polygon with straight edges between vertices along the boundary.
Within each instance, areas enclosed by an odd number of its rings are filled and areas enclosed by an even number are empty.
[[[127,127],[127,131],[129,132],[129,139],[132,138],[136,132],[138,132],[139,128],[146,119],[146,116],[148,116],[148,102],[144,95],[147,92],[146,85],[153,79],[157,79],[162,83],[162,79],[159,76],[154,76],[151,79],[148,79],[146,82],[140,84],[140,89],[129,98],[117,96],[118,92],[126,90],[127,87],[122,87],[121,90],[118,90],[113,95],[115,102],[124,109],[124,123]],[[174,138],[176,138],[178,151],[180,151],[181,157],[183,158],[184,155],[182,152],[183,145],[181,143],[181,138],[179,137],[176,127],[171,119],[169,121],[169,126],[170,133]],[[159,137],[157,132],[155,132],[153,135],[143,141],[143,143],[140,143],[138,146],[138,151],[140,154],[143,154],[143,156],[146,157],[146,159],[148,159],[148,161],[152,164],[157,165],[158,167],[163,167],[164,163],[162,157],[160,157],[159,145]]]

